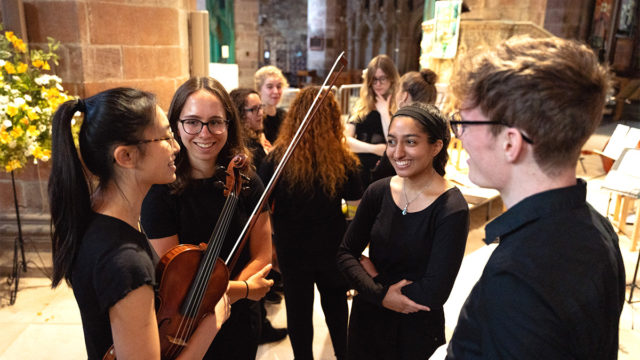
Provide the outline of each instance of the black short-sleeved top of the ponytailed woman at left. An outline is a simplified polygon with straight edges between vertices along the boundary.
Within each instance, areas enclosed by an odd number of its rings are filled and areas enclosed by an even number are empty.
[[[71,273],[89,359],[102,359],[113,344],[109,308],[140,286],[155,286],[154,254],[129,224],[93,215]]]

